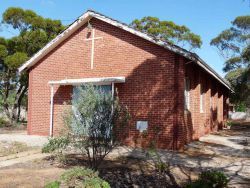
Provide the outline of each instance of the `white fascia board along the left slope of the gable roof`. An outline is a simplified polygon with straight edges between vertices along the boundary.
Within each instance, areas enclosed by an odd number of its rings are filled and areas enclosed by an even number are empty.
[[[47,55],[51,50],[53,50],[58,44],[67,39],[72,33],[79,29],[84,23],[90,19],[88,12],[79,17],[72,25],[70,25],[65,31],[59,34],[56,38],[50,41],[46,46],[44,46],[40,51],[38,51],[34,56],[32,56],[28,61],[26,61],[21,67],[18,68],[18,72],[21,73],[27,68],[32,67],[45,55]]]

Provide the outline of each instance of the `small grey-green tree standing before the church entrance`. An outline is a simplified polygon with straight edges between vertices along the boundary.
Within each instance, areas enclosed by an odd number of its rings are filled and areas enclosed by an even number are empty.
[[[64,116],[64,134],[71,146],[87,156],[89,166],[97,169],[118,144],[115,127],[127,124],[129,115],[119,105],[118,98],[113,98],[101,87],[85,85],[78,87],[77,91],[73,96],[72,110]],[[50,143],[53,144],[53,141]],[[60,144],[57,145],[60,147]]]

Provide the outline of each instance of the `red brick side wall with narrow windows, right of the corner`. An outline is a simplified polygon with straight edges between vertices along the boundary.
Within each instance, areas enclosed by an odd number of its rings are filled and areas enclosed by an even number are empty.
[[[227,118],[229,91],[198,65],[189,63],[185,70],[185,76],[191,81],[190,109],[185,115],[192,117],[190,123],[193,127],[192,138],[195,140],[223,127]],[[200,110],[201,87],[204,89],[203,112]]]

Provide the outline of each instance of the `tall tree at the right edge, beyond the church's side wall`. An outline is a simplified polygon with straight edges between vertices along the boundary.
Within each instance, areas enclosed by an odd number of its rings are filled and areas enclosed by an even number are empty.
[[[225,78],[235,91],[231,102],[250,108],[250,15],[235,18],[210,44],[225,58]]]

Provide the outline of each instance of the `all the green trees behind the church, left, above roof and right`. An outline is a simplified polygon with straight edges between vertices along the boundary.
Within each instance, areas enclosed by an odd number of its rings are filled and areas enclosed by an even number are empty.
[[[27,107],[28,74],[17,74],[17,68],[65,29],[60,20],[37,15],[32,10],[10,7],[2,15],[2,29],[18,31],[12,38],[0,37],[0,110],[10,121],[19,121],[20,109]],[[193,51],[202,45],[201,37],[172,21],[147,16],[135,19],[131,27],[156,39]],[[249,105],[250,16],[239,16],[232,27],[211,41],[226,59],[226,79],[235,93],[232,101]]]

